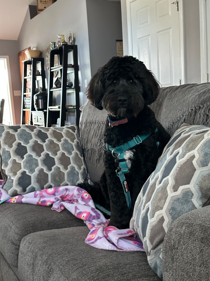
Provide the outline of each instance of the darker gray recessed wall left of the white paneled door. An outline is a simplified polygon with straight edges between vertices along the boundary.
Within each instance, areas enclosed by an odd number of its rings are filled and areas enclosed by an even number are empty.
[[[122,40],[119,1],[86,0],[91,74],[117,55],[116,40]]]

